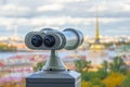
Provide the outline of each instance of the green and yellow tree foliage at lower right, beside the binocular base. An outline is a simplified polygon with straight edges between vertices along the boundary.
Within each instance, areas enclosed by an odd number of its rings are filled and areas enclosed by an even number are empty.
[[[76,62],[77,70],[82,74],[82,87],[130,87],[128,84],[130,77],[126,78],[126,74],[130,72],[125,67],[125,62],[120,57],[115,57],[110,63],[104,61],[96,72],[82,71],[81,69],[89,69],[91,64],[91,62],[84,63],[88,62],[83,60]]]

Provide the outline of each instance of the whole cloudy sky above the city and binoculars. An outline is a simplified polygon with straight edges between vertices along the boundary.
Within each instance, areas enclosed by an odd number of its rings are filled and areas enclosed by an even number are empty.
[[[130,36],[130,0],[0,0],[0,36],[44,27],[94,36],[96,10],[100,35]]]

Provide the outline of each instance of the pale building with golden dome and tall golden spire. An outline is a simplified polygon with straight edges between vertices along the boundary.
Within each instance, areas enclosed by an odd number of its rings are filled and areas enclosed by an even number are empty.
[[[89,51],[87,52],[87,61],[91,61],[93,66],[101,66],[104,61],[109,61],[108,50],[100,41],[100,27],[99,17],[96,13],[95,20],[95,38],[94,42],[91,44]]]

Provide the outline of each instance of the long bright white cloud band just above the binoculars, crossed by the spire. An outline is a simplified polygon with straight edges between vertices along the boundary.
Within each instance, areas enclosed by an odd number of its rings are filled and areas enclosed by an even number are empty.
[[[100,25],[109,25],[118,24],[119,22],[129,22],[130,18],[108,18],[108,17],[99,17]],[[61,17],[31,17],[31,18],[11,18],[11,17],[0,17],[0,25],[6,26],[6,29],[13,29],[12,26],[30,26],[30,27],[43,27],[43,26],[91,26],[95,24],[95,17],[70,17],[70,16],[61,16]]]

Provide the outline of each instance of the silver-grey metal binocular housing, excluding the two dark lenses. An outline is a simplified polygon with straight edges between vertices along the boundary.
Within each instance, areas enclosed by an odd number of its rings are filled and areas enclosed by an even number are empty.
[[[51,35],[55,39],[55,44],[52,47],[47,47],[44,42],[40,47],[35,47],[31,44],[31,38],[35,35],[39,35],[44,41],[44,37]],[[30,32],[25,37],[25,44],[28,48],[34,50],[60,50],[60,49],[67,49],[73,50],[80,46],[83,41],[83,35],[81,32],[74,29],[74,28],[66,28],[63,32],[58,32],[51,28],[44,28],[40,32]]]

